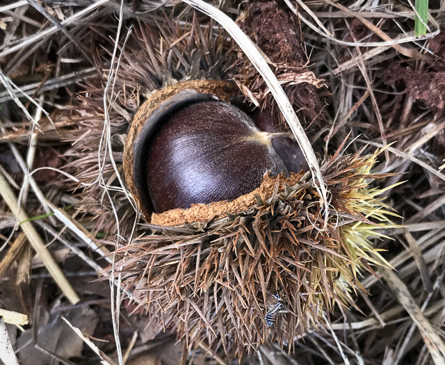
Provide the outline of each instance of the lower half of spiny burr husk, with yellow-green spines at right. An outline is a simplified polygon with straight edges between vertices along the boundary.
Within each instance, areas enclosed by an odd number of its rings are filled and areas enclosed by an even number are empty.
[[[369,186],[384,177],[371,174],[377,154],[334,155],[323,163],[332,193],[325,230],[311,181],[266,177],[267,188],[241,211],[149,225],[151,234],[118,250],[115,270],[138,308],[189,346],[206,341],[238,355],[246,344],[257,348],[275,339],[291,346],[335,304],[353,305],[350,292],[364,290],[362,272],[387,265],[369,241],[395,215]],[[268,327],[266,314],[277,298],[283,313]]]

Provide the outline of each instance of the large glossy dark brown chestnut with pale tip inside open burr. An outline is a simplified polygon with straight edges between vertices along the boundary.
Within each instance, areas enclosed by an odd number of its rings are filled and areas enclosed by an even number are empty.
[[[236,106],[197,102],[165,120],[152,139],[147,188],[162,213],[234,200],[258,188],[267,172],[288,175],[270,133]]]

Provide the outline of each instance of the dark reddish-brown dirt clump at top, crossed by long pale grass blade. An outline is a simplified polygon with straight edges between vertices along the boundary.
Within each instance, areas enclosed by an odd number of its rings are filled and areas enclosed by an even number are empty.
[[[307,68],[309,61],[298,18],[275,1],[257,0],[253,1],[248,9],[248,16],[240,25],[270,59],[270,67],[282,82],[298,116],[306,125],[321,119],[324,106],[321,97],[323,93],[326,94],[326,90],[318,90],[323,86],[323,80],[316,79]],[[252,91],[261,108],[270,107],[273,115],[280,115],[264,79],[250,61],[245,60],[241,71],[234,78],[236,81],[243,81],[243,85]]]

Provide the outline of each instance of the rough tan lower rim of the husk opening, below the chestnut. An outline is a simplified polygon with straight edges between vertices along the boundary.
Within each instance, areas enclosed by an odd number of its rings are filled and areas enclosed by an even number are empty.
[[[215,218],[222,218],[226,214],[234,214],[248,210],[257,204],[257,197],[267,200],[272,196],[275,186],[278,193],[284,190],[284,184],[293,186],[300,182],[302,173],[291,173],[290,177],[273,177],[266,175],[259,188],[251,193],[241,195],[232,201],[222,200],[210,204],[192,204],[189,209],[171,209],[164,213],[153,213],[152,224],[154,225],[184,225],[184,223],[209,222]]]

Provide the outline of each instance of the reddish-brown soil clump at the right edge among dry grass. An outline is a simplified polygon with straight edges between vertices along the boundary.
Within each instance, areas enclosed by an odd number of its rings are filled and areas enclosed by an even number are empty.
[[[416,71],[395,63],[383,72],[382,79],[388,86],[405,86],[404,91],[411,93],[414,99],[424,102],[435,113],[444,113],[445,72]]]

